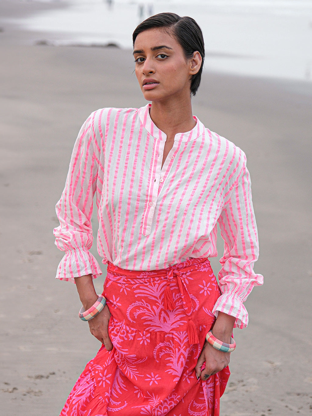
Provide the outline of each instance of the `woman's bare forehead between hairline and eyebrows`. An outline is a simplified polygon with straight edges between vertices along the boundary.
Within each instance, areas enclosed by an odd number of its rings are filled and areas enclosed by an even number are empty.
[[[176,37],[168,28],[153,28],[139,33],[134,42],[134,50],[149,50],[158,46],[168,46],[171,49],[182,49]]]

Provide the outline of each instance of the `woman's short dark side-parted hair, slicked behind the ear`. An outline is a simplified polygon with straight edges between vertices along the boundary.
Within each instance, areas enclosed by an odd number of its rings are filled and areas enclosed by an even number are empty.
[[[144,20],[136,27],[132,35],[133,46],[139,33],[144,32],[144,30],[154,29],[155,27],[168,27],[172,31],[172,34],[181,45],[186,59],[190,59],[195,51],[201,54],[203,59],[201,68],[197,74],[192,76],[191,80],[191,93],[195,95],[201,83],[201,74],[203,72],[205,58],[205,46],[201,28],[192,17],[181,17],[176,15],[176,13],[159,13]]]

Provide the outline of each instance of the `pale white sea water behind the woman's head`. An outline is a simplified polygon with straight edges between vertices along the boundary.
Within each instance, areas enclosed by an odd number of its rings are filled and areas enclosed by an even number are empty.
[[[312,0],[71,0],[18,23],[54,44],[131,48],[136,25],[164,11],[201,26],[206,70],[312,82]]]

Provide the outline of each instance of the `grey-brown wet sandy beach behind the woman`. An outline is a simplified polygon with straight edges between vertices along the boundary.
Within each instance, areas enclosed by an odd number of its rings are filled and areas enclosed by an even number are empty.
[[[42,35],[1,21],[17,3],[0,2],[0,414],[57,416],[100,345],[74,285],[54,278],[54,206],[87,116],[145,101],[130,50],[35,45]],[[248,328],[234,332],[221,415],[311,415],[312,84],[205,72],[193,113],[247,155],[265,277],[245,302]]]

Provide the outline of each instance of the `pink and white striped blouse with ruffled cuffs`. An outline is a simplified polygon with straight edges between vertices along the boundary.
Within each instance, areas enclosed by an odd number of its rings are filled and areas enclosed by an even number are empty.
[[[258,237],[245,154],[194,117],[196,126],[176,134],[161,167],[166,134],[149,108],[100,109],[83,124],[56,206],[56,245],[66,252],[57,278],[102,274],[89,253],[94,193],[99,255],[127,270],[215,257],[218,222],[225,249],[213,312],[235,316],[243,328],[243,302],[263,280],[253,272]]]

